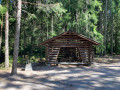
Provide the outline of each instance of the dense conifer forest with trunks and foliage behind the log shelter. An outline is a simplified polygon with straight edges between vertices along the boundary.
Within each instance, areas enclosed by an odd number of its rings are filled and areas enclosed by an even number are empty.
[[[0,0],[3,67],[12,66],[13,58],[18,63],[44,60],[45,47],[40,43],[68,30],[100,43],[94,47],[97,56],[120,54],[120,0],[20,0],[18,12],[17,1]]]

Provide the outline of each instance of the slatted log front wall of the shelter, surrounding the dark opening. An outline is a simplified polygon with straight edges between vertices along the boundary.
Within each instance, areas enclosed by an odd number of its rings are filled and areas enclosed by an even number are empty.
[[[79,38],[75,35],[63,35],[55,40],[49,42],[49,47],[47,53],[47,58],[49,62],[58,62],[58,58],[62,58],[64,53],[66,53],[65,49],[62,48],[75,48],[76,56],[82,59],[82,62],[90,64],[93,61],[93,49],[92,43],[83,38]],[[61,53],[58,57],[58,54]]]

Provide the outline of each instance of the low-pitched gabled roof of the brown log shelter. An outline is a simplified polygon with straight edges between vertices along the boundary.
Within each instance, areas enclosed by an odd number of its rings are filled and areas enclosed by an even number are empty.
[[[48,44],[50,41],[55,40],[55,39],[57,39],[57,38],[59,38],[59,37],[61,37],[61,36],[63,36],[63,35],[66,35],[66,34],[73,34],[73,35],[76,35],[76,36],[78,36],[78,37],[80,37],[80,38],[82,38],[82,39],[84,39],[84,40],[87,40],[87,41],[91,42],[91,43],[94,44],[94,45],[99,45],[98,42],[96,42],[96,41],[94,41],[94,40],[92,40],[92,39],[90,39],[90,38],[87,38],[86,36],[84,36],[84,35],[82,35],[82,34],[78,34],[78,33],[74,32],[74,31],[71,31],[71,30],[69,30],[69,31],[67,31],[67,32],[64,32],[64,33],[62,33],[62,34],[60,34],[60,35],[58,35],[58,36],[55,36],[55,37],[53,37],[53,38],[51,38],[51,39],[48,39],[48,40],[42,42],[41,45]]]

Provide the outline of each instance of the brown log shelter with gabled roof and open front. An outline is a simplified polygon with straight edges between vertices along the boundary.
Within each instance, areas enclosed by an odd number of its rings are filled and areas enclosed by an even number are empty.
[[[41,43],[46,46],[46,59],[50,64],[87,64],[93,62],[93,45],[98,45],[81,34],[64,32]]]

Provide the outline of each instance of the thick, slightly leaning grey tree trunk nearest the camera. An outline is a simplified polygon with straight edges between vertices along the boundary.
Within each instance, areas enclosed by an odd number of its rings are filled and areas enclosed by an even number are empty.
[[[16,23],[16,33],[14,42],[14,52],[13,52],[13,65],[11,75],[17,74],[17,60],[19,52],[19,37],[20,37],[20,22],[21,22],[21,0],[17,0],[17,23]]]

